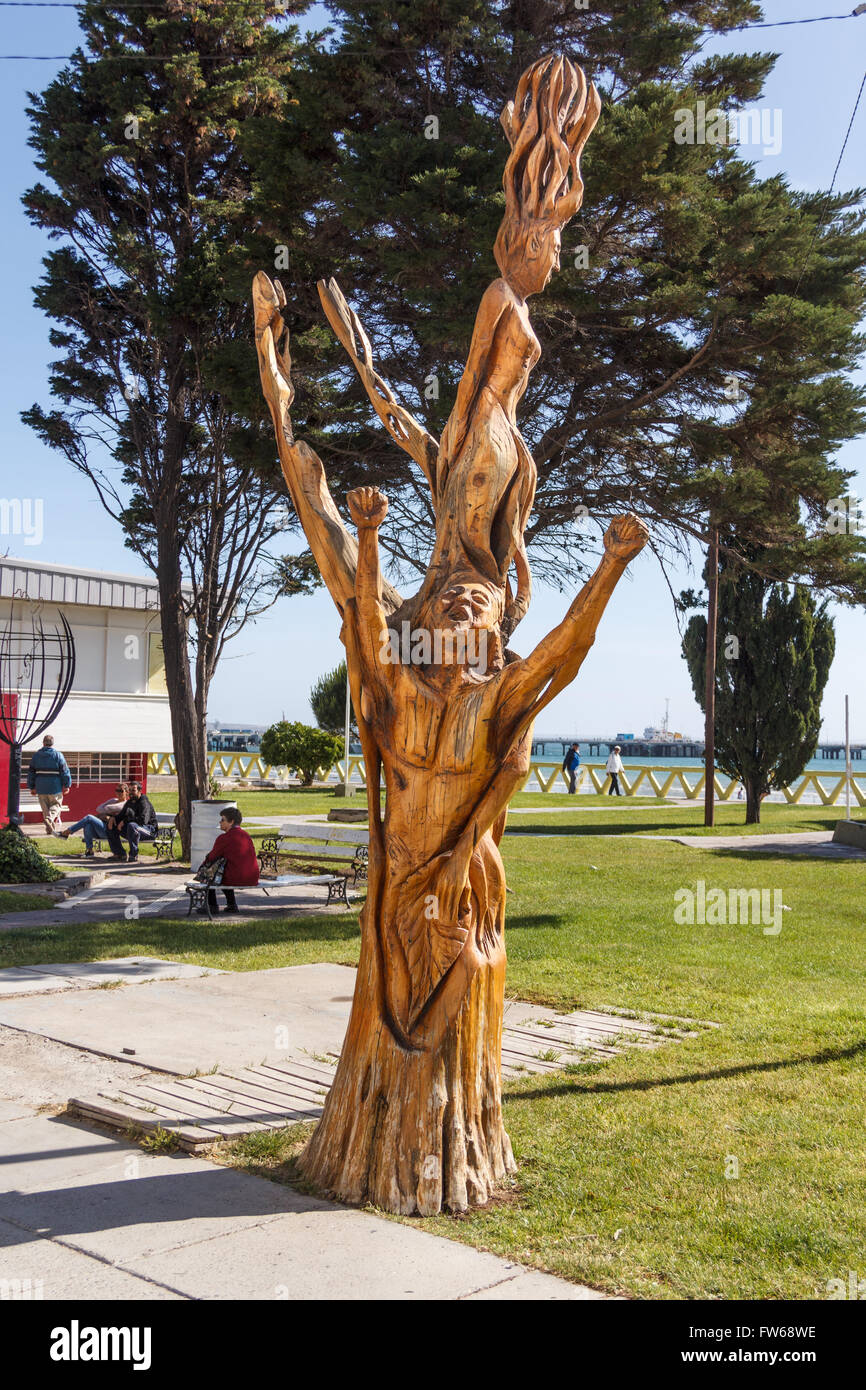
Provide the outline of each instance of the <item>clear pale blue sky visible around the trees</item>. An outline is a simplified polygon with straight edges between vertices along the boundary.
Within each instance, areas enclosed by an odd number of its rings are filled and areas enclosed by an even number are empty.
[[[852,6],[853,8],[853,6]],[[767,21],[840,13],[831,0],[767,0]],[[67,54],[78,42],[74,10],[0,7],[0,53]],[[840,24],[815,24],[755,31],[713,40],[717,49],[780,53],[762,106],[781,113],[778,154],[755,157],[762,171],[783,171],[794,186],[827,188],[866,65],[866,14]],[[710,51],[710,46],[705,51]],[[121,573],[139,566],[122,543],[120,528],[101,510],[90,484],[53,455],[19,421],[32,402],[49,402],[46,366],[51,359],[47,320],[32,304],[40,277],[44,242],[21,208],[21,193],[33,182],[26,145],[26,92],[42,89],[58,63],[3,63],[0,89],[1,302],[6,306],[0,371],[0,449],[3,496],[44,499],[44,539],[24,546],[19,537],[0,537],[0,550],[53,563]],[[848,143],[837,186],[866,183],[863,149],[866,100]],[[592,189],[587,189],[587,204]],[[350,295],[350,286],[343,286]],[[862,439],[838,455],[856,468],[858,495],[866,495]],[[293,548],[293,546],[289,546]],[[299,546],[297,546],[299,548]],[[698,559],[698,573],[701,562]],[[674,588],[695,585],[695,573],[674,575]],[[514,646],[528,652],[562,617],[569,595],[537,588],[532,609],[518,628]],[[845,692],[852,698],[852,737],[866,742],[866,614],[834,609],[837,656],[824,698],[827,738],[842,733]],[[285,599],[227,649],[211,688],[210,717],[225,723],[310,720],[309,688],[342,657],[335,610],[327,595]],[[667,585],[657,564],[641,556],[620,584],[605,614],[598,639],[577,681],[541,716],[541,734],[642,733],[657,723],[670,698],[670,727],[687,734],[702,728],[695,705]]]

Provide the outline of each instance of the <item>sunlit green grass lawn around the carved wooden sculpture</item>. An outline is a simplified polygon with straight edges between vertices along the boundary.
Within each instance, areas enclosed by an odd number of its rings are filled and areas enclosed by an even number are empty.
[[[767,808],[767,820],[776,812]],[[837,819],[778,812],[780,828]],[[509,1083],[513,1191],[488,1211],[420,1225],[638,1297],[809,1298],[848,1270],[862,1277],[866,863],[584,838],[619,815],[587,816],[582,831],[575,812],[567,834],[559,823],[571,817],[548,816],[549,838],[506,838],[509,992],[719,1027]],[[649,830],[653,817],[642,815]],[[659,808],[678,828],[688,815]],[[699,878],[783,890],[781,931],[677,924],[674,894]],[[0,934],[0,966],[140,954],[261,969],[350,963],[357,944],[354,913],[211,926],[149,919]],[[292,1143],[268,1141],[254,1159],[240,1147],[235,1161],[285,1177]]]

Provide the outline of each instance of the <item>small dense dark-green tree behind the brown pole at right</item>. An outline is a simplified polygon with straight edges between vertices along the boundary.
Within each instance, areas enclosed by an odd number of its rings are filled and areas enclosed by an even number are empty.
[[[716,637],[716,762],[745,787],[746,824],[762,798],[788,787],[815,756],[835,648],[826,605],[724,556]],[[695,699],[705,708],[706,617],[683,639]]]

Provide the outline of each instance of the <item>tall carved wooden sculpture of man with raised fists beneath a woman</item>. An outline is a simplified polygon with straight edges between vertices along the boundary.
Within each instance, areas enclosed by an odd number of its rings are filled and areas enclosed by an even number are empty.
[[[256,342],[279,457],[310,548],[342,616],[370,801],[368,894],[349,1030],[322,1119],[300,1163],[348,1201],[428,1215],[485,1202],[513,1172],[502,1122],[506,809],[530,767],[535,714],[577,674],[646,531],[616,520],[603,559],[563,623],[525,659],[506,642],[530,602],[524,527],[535,464],[516,424],[539,346],[527,297],[559,265],[560,229],[582,199],[581,150],[598,120],[594,86],[567,58],[520,79],[502,115],[512,146],[495,256],[502,278],[475,320],[457,400],[436,443],[373,366],[334,281],[320,296],[393,439],[423,470],[436,539],[406,602],[384,580],[375,488],[348,496],[357,543],[320,459],[292,435],[279,284],[256,277]],[[514,566],[516,585],[509,582]],[[409,621],[416,660],[391,631]],[[428,649],[425,649],[428,648]],[[379,810],[379,778],[386,801]]]

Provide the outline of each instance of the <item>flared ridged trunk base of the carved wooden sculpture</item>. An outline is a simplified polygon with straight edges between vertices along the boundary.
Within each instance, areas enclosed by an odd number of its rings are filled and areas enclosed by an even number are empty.
[[[343,1201],[403,1215],[484,1205],[516,1170],[500,1099],[505,951],[430,1049],[407,1047],[384,1016],[373,917],[368,898],[349,1029],[300,1168]]]

